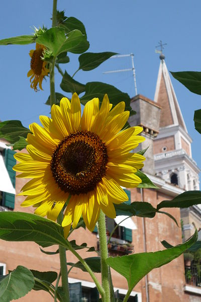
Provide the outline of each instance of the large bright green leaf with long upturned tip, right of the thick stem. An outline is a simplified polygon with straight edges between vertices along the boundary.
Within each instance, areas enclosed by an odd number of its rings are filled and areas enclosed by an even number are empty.
[[[122,257],[109,257],[106,262],[127,279],[129,291],[152,269],[161,267],[180,256],[197,240],[197,231],[187,242],[171,249],[154,253],[139,253]]]

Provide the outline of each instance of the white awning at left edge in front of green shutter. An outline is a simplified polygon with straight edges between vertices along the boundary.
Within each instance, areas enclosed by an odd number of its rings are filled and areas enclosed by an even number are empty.
[[[4,163],[2,154],[0,153],[0,191],[16,194],[9,173]]]

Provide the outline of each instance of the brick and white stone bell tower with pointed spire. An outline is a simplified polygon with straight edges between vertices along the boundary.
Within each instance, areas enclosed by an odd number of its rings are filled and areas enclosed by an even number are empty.
[[[154,139],[154,164],[158,176],[184,190],[199,190],[191,142],[169,77],[161,58],[154,101],[161,107],[159,134]]]

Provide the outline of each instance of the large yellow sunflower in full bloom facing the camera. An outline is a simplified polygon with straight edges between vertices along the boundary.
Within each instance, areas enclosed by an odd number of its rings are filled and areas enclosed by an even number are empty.
[[[36,206],[35,213],[56,220],[68,200],[62,226],[65,233],[75,228],[82,216],[93,231],[100,209],[116,217],[114,203],[128,200],[121,188],[137,187],[135,175],[145,158],[131,151],[144,140],[141,127],[121,131],[129,117],[121,102],[112,110],[105,95],[88,101],[81,116],[77,94],[71,102],[62,98],[53,105],[51,117],[40,116],[43,126],[30,125],[29,154],[15,154],[18,177],[31,178],[19,195],[27,196],[22,206]]]

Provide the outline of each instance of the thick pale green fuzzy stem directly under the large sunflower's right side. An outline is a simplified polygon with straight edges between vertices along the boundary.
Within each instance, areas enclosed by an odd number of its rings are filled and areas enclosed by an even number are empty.
[[[106,217],[102,210],[100,210],[100,215],[98,218],[98,233],[99,233],[99,244],[100,244],[100,263],[101,263],[101,273],[102,273],[102,286],[105,291],[103,298],[104,302],[110,302],[110,276],[109,267],[106,263],[108,258],[108,245],[106,236]]]

